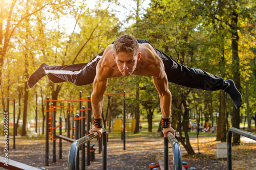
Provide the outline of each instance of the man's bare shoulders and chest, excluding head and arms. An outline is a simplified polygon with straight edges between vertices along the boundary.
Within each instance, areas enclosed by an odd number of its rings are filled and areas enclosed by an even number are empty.
[[[139,52],[141,53],[141,59],[137,62],[136,69],[132,74],[137,76],[162,77],[164,64],[156,54],[154,48],[148,43],[139,44]],[[113,59],[113,53],[113,44],[108,45],[97,64],[96,73],[97,75],[100,74],[101,80],[123,76]]]

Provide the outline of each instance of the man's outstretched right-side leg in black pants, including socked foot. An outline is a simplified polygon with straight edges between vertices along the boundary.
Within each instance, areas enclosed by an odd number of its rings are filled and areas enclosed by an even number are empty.
[[[203,90],[224,90],[232,99],[234,106],[237,109],[241,107],[242,95],[232,80],[225,81],[222,77],[212,75],[200,68],[179,64],[158,49],[156,53],[163,60],[168,82]]]

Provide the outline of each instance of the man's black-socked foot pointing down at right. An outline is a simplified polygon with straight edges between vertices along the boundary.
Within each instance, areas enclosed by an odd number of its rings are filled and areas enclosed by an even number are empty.
[[[229,84],[224,91],[228,93],[230,98],[232,99],[234,106],[236,106],[237,109],[239,109],[242,105],[242,95],[238,91],[236,85],[234,85],[234,82],[232,80],[226,80],[226,82]]]

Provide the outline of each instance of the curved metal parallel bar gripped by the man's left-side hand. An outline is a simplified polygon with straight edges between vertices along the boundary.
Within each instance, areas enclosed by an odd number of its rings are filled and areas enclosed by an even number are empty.
[[[74,170],[76,167],[76,157],[77,157],[77,152],[79,147],[92,140],[93,138],[97,137],[98,133],[93,132],[90,133],[89,135],[86,135],[84,137],[81,137],[77,140],[75,140],[70,147],[69,150],[69,158],[68,158],[68,170]],[[102,143],[103,143],[103,148],[102,148],[102,169],[106,169],[106,129],[102,128]]]

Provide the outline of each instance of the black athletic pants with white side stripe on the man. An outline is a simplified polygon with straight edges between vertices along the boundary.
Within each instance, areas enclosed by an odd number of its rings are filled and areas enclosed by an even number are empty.
[[[137,41],[139,43],[151,44],[147,40],[143,39],[137,39]],[[168,82],[204,90],[223,89],[225,81],[222,77],[209,74],[199,68],[181,65],[160,50],[156,48],[154,49],[164,63]],[[47,66],[45,67],[45,72],[54,83],[68,81],[77,86],[87,85],[93,83],[96,75],[96,65],[102,55],[103,52],[98,54],[88,63]]]

